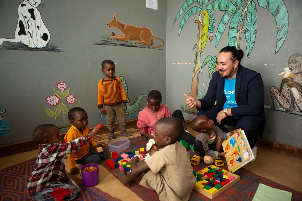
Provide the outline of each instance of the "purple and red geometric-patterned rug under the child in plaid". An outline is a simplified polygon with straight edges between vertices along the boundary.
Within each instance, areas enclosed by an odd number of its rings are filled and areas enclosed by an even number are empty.
[[[1,201],[28,201],[26,195],[27,180],[34,169],[36,158],[24,161],[17,165],[0,170],[0,200]],[[81,194],[78,201],[119,201],[96,187],[85,187],[81,179],[70,175],[78,181]]]

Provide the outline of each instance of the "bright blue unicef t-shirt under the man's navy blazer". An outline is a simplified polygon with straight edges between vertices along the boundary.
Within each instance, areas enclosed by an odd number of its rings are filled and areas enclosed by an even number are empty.
[[[232,80],[229,80],[227,78],[224,80],[223,93],[224,95],[226,95],[226,102],[224,103],[222,109],[233,108],[238,106],[235,99],[235,84],[236,77]]]

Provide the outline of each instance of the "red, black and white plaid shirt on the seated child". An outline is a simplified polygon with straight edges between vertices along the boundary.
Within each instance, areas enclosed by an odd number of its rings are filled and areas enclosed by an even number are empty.
[[[53,183],[68,183],[63,155],[75,152],[89,140],[89,135],[85,135],[65,144],[40,144],[36,166],[28,180],[27,196],[33,198],[42,189]]]

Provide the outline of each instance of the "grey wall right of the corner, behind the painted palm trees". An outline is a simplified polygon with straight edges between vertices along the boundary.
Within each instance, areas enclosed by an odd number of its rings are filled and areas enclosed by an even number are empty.
[[[185,105],[185,97],[183,94],[190,93],[193,75],[195,51],[192,50],[196,44],[198,30],[198,25],[197,23],[194,23],[194,21],[198,19],[198,15],[195,14],[188,19],[179,37],[178,26],[181,18],[178,19],[173,26],[175,16],[184,2],[185,0],[167,0],[166,95],[167,105],[171,111]],[[288,34],[282,47],[275,54],[277,26],[274,16],[272,16],[267,9],[259,7],[257,1],[255,2],[258,16],[256,41],[251,55],[248,58],[246,55],[245,40],[241,40],[240,49],[243,49],[245,52],[245,57],[241,61],[241,64],[261,73],[265,87],[264,105],[271,106],[272,101],[269,88],[271,86],[276,86],[279,89],[282,76],[279,76],[278,73],[281,73],[284,71],[284,68],[288,67],[288,58],[291,55],[302,52],[301,37],[298,34],[302,30],[302,3],[300,0],[283,1],[289,15]],[[194,5],[200,7],[196,2]],[[220,22],[224,11],[214,11],[214,14],[216,22],[214,33],[216,33],[218,23]],[[221,37],[217,48],[215,48],[214,39],[212,42],[208,39],[206,47],[201,53],[201,63],[206,56],[218,55],[220,49],[228,45],[228,26],[229,24],[226,26],[225,33]],[[215,34],[213,34],[213,36],[215,38]],[[209,83],[207,66],[203,68],[203,73],[199,77],[199,91],[203,90],[203,82],[205,84],[205,91],[207,91]],[[300,148],[302,147],[301,116],[281,111],[272,111],[270,109],[265,109],[265,115],[267,124],[265,126],[263,138]],[[187,113],[184,113],[184,116],[188,119],[193,119],[195,117],[194,115],[189,115]]]

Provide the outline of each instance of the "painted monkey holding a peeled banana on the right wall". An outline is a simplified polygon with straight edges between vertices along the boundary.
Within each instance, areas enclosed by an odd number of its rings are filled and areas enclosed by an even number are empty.
[[[278,75],[283,79],[278,90],[271,86],[272,110],[282,108],[285,112],[302,116],[302,54],[296,53],[288,58],[288,68]]]

